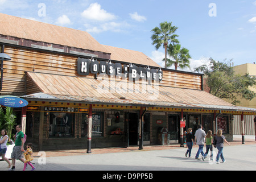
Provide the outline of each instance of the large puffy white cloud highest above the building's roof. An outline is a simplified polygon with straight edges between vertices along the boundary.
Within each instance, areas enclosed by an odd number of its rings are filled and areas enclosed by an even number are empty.
[[[106,10],[101,9],[101,5],[97,2],[90,4],[88,9],[84,10],[81,15],[86,19],[101,22],[110,21],[116,18],[114,14],[108,13]]]

